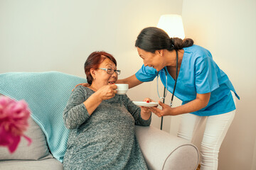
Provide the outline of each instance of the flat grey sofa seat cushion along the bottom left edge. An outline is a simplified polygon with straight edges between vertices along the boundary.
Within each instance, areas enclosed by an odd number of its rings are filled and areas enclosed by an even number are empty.
[[[40,161],[9,160],[0,161],[0,169],[4,170],[63,170],[63,164],[57,159],[43,159]]]

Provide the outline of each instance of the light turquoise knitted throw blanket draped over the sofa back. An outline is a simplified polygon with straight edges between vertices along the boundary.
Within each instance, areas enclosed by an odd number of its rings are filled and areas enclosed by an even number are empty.
[[[69,134],[63,110],[75,85],[85,82],[61,72],[9,72],[0,74],[0,94],[28,103],[31,117],[46,135],[50,152],[63,162]]]

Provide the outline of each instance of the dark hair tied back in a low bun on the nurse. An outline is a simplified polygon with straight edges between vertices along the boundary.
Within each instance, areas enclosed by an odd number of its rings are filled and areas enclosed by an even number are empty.
[[[144,28],[138,35],[135,47],[139,47],[147,52],[156,52],[156,50],[181,50],[183,47],[191,47],[193,40],[191,38],[170,38],[162,29],[156,27]]]

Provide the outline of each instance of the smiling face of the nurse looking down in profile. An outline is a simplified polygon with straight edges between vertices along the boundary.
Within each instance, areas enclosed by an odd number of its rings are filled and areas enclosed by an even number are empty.
[[[139,57],[141,57],[144,62],[144,66],[153,67],[157,72],[164,68],[163,57],[161,57],[161,54],[158,50],[156,50],[154,53],[146,52],[139,47],[137,47],[137,50]]]

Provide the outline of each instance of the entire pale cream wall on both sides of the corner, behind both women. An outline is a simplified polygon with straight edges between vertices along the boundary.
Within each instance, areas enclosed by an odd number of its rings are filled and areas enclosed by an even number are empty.
[[[256,169],[255,8],[255,0],[0,0],[0,73],[56,70],[84,77],[90,52],[105,50],[117,59],[119,78],[128,77],[142,65],[134,47],[139,31],[156,26],[162,14],[182,12],[186,36],[213,53],[241,97],[219,169]],[[158,100],[156,81],[128,95]],[[159,123],[154,116],[153,125]],[[179,116],[164,118],[166,131],[175,134],[178,124]]]

